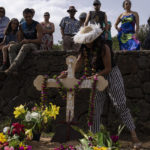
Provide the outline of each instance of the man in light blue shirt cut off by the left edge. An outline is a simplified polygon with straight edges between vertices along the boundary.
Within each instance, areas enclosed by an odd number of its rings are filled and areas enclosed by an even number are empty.
[[[5,8],[0,7],[0,43],[3,41],[4,32],[9,21],[9,18],[5,16]]]

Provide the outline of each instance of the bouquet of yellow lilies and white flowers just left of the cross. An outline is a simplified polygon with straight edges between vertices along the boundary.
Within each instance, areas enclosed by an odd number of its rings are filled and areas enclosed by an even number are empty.
[[[14,116],[25,126],[27,138],[39,141],[41,132],[46,125],[56,119],[56,116],[59,114],[59,108],[52,103],[49,106],[35,105],[31,110],[26,106],[20,105],[15,108]]]

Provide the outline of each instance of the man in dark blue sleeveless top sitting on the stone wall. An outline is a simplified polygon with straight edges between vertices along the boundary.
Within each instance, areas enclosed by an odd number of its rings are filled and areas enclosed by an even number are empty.
[[[42,27],[33,20],[33,12],[26,8],[23,11],[25,22],[20,25],[18,40],[19,44],[11,44],[9,47],[9,60],[11,66],[5,72],[16,72],[28,53],[40,47],[42,39]]]

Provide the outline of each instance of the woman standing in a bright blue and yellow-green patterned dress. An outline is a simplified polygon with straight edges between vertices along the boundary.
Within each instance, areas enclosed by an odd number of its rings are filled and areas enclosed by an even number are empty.
[[[123,8],[125,12],[118,17],[115,24],[115,28],[118,31],[120,50],[140,50],[140,42],[137,40],[139,15],[137,12],[131,10],[131,5],[130,0],[124,0]],[[118,28],[120,22],[122,25]]]

